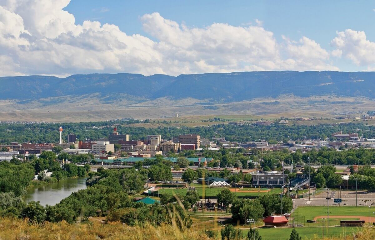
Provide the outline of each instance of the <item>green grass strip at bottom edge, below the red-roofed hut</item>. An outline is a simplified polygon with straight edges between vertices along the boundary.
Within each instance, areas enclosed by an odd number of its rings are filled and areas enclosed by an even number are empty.
[[[328,235],[327,235],[328,229]],[[276,240],[276,239],[289,239],[290,233],[292,232],[293,228],[258,228],[260,236],[262,236],[262,240]],[[302,239],[312,239],[316,236],[317,239],[322,238],[324,230],[324,236],[336,236],[336,237],[344,237],[352,233],[357,233],[361,230],[359,227],[329,227],[329,228],[321,228],[321,227],[299,227],[296,228],[297,233],[299,233]],[[242,231],[244,236],[247,236],[248,231]]]

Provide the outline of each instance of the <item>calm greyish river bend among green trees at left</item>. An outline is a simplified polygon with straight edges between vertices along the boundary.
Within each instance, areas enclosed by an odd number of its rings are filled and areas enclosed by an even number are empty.
[[[40,201],[45,206],[55,205],[73,192],[86,189],[86,178],[63,179],[55,183],[33,187],[27,190],[25,201]]]

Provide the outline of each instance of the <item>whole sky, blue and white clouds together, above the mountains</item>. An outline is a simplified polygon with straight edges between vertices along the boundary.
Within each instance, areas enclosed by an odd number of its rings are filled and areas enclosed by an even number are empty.
[[[374,1],[0,0],[0,76],[374,71]]]

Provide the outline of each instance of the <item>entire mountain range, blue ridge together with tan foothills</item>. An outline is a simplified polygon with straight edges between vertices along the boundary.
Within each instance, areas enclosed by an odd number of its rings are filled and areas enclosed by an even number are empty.
[[[0,120],[155,119],[175,114],[325,116],[375,110],[375,72],[258,71],[0,77]]]

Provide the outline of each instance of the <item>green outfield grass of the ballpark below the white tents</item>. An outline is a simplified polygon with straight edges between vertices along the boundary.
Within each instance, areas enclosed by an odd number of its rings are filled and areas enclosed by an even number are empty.
[[[198,192],[199,196],[217,196],[217,193],[219,193],[220,191],[222,191],[223,189],[225,188],[195,188],[195,190]],[[259,196],[259,193],[258,193],[258,188],[229,188],[229,189],[234,189],[236,191],[234,191],[234,193],[236,193],[237,196]],[[248,191],[248,190],[256,190],[255,192],[252,192],[252,193],[246,193],[246,192],[242,192],[242,191]],[[183,194],[185,195],[188,191],[188,188],[161,188],[159,190],[159,193],[160,194],[163,194],[163,193],[166,193],[166,194]],[[232,190],[233,191],[233,190]],[[281,189],[280,188],[274,188],[272,191],[269,191],[269,192],[261,192],[260,194],[263,195],[263,194],[270,194],[270,193],[278,193],[280,194],[281,193]]]

